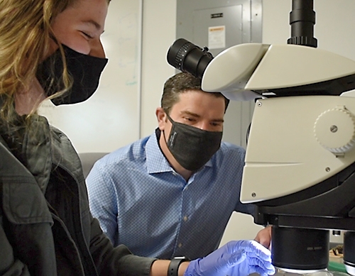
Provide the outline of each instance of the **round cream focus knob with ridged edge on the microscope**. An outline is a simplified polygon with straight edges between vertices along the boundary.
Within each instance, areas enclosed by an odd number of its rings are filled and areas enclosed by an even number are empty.
[[[355,117],[345,106],[328,109],[318,116],[315,138],[331,153],[343,154],[355,145]]]

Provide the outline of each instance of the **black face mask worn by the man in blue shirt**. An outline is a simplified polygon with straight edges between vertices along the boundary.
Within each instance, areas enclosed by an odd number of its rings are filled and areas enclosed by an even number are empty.
[[[221,146],[222,131],[203,131],[167,116],[173,124],[167,142],[170,153],[186,170],[199,170]]]

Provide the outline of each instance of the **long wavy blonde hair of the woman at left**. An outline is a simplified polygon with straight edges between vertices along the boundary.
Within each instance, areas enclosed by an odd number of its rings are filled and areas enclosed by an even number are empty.
[[[35,77],[38,64],[48,52],[51,28],[59,13],[82,0],[1,0],[0,1],[0,116],[6,118],[13,106],[14,94],[27,89]],[[108,0],[109,2],[110,0]],[[58,43],[60,45],[60,43]],[[70,88],[64,52],[62,81]],[[63,91],[63,92],[64,92]]]

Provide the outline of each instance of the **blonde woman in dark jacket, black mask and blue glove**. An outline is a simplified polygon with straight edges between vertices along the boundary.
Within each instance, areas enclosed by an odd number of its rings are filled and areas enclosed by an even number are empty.
[[[97,89],[108,6],[0,1],[0,275],[271,274],[270,252],[256,242],[175,265],[113,248],[92,218],[77,153],[36,109],[48,97],[72,104]]]

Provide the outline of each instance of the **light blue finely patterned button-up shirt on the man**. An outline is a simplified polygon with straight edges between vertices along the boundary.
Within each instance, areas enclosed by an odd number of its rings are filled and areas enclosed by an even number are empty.
[[[136,255],[201,258],[218,247],[233,211],[251,214],[239,202],[244,155],[222,143],[186,182],[153,133],[95,163],[87,177],[92,215],[114,245]]]

